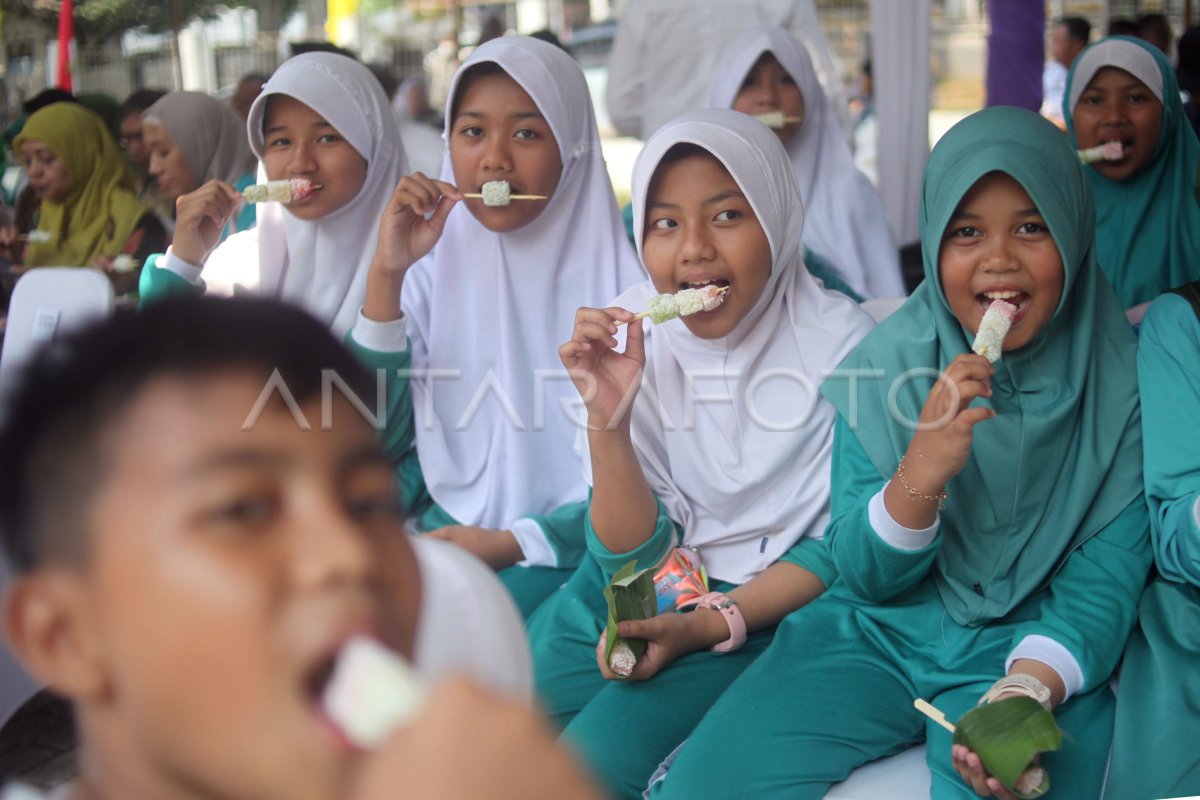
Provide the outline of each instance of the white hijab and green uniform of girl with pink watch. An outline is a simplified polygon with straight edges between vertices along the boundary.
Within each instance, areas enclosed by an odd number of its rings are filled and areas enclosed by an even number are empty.
[[[565,726],[563,740],[616,798],[642,796],[658,764],[768,646],[774,626],[754,631],[732,652],[689,652],[644,681],[605,680],[596,664],[605,584],[632,559],[640,566],[659,564],[677,542],[700,551],[716,591],[752,582],[780,560],[824,587],[834,584],[836,570],[820,540],[828,521],[834,408],[815,391],[798,397],[805,392],[791,385],[764,392],[766,405],[758,407],[748,402],[748,387],[784,373],[815,387],[871,327],[853,302],[821,290],[808,273],[800,257],[803,204],[787,154],[774,133],[744,114],[697,110],[660,128],[635,170],[636,218],[644,218],[654,176],[683,143],[709,152],[737,182],[770,248],[769,272],[758,289],[740,289],[757,294],[720,337],[703,338],[680,321],[644,332],[643,383],[630,405],[628,435],[658,501],[653,527],[646,519],[644,530],[629,531],[640,546],[614,553],[589,516],[589,558],[529,625],[542,705]],[[733,293],[752,285],[745,278],[754,270],[768,267],[760,261],[726,272],[713,258],[713,275],[730,275]],[[644,307],[655,291],[647,282],[613,305]],[[719,383],[701,383],[697,392],[692,379],[706,374]],[[713,402],[694,407],[701,395]],[[812,408],[798,414],[805,403]],[[767,405],[792,421],[769,423],[772,417],[756,410]],[[601,470],[596,486],[611,477],[602,462],[588,459]],[[702,790],[696,796],[722,795]]]

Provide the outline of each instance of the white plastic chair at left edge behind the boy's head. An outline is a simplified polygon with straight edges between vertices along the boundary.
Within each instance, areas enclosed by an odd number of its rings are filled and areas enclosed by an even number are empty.
[[[20,367],[47,343],[113,313],[113,284],[98,270],[38,267],[17,282],[0,351],[0,413]],[[0,555],[0,591],[11,570]],[[37,691],[37,685],[0,643],[0,723]]]

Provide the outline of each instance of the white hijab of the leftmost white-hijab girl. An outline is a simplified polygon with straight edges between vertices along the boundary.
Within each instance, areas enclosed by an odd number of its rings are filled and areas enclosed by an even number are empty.
[[[284,61],[250,107],[246,128],[259,160],[271,95],[294,97],[320,114],[366,158],[366,179],[353,200],[320,219],[298,219],[278,203],[260,204],[258,225],[247,231],[253,236],[230,236],[209,258],[204,279],[224,294],[248,290],[300,306],[343,336],[362,307],[379,217],[408,172],[396,118],[365,66],[334,53],[305,53]],[[254,239],[257,254],[248,246]]]

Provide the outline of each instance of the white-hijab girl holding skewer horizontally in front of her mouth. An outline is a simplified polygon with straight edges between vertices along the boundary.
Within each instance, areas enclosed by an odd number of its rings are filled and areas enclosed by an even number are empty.
[[[558,342],[576,308],[641,270],[583,73],[563,50],[524,36],[478,48],[451,84],[445,138],[442,180],[404,178],[384,215],[364,313],[412,357],[415,452],[402,480],[415,527],[499,570],[528,614],[584,551]],[[463,200],[502,180],[546,199]]]

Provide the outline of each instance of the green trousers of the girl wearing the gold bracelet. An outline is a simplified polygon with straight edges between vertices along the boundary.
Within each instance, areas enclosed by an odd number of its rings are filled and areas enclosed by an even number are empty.
[[[1002,676],[1016,624],[958,625],[930,581],[886,606],[835,585],[780,622],[653,796],[820,800],[854,768],[925,740],[931,796],[974,798],[950,765],[950,734],[913,699],[959,718]],[[1103,685],[1057,710],[1064,746],[1042,758],[1055,800],[1099,796],[1114,704]]]

